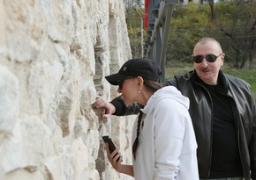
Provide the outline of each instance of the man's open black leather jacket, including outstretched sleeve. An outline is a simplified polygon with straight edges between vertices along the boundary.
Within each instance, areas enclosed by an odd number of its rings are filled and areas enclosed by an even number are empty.
[[[191,71],[184,76],[175,76],[165,85],[174,85],[185,97],[190,99],[190,115],[198,142],[198,164],[200,178],[207,178],[210,174],[212,151],[212,100],[210,93],[196,75]],[[242,79],[224,75],[220,71],[218,86],[222,87],[222,94],[234,100],[237,116],[238,149],[241,156],[245,180],[256,180],[256,107],[251,87]],[[137,113],[136,104],[125,106],[121,98],[112,102],[116,107],[116,115]],[[251,171],[251,172],[250,172]]]

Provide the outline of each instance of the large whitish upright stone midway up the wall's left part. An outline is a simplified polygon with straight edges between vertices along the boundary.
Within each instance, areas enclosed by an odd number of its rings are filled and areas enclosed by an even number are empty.
[[[31,65],[27,83],[30,113],[49,112],[50,104],[53,103],[56,91],[59,90],[58,84],[61,83],[63,74],[64,67],[58,61],[41,61]]]

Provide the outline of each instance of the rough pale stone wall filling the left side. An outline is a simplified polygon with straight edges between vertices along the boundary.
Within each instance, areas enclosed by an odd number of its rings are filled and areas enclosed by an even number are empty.
[[[134,116],[98,119],[104,76],[131,58],[122,0],[0,0],[0,179],[115,180],[102,135],[131,164]]]

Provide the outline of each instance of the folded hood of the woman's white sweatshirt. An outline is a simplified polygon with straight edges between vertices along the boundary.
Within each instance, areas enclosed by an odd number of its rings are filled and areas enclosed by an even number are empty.
[[[190,101],[188,97],[184,97],[179,90],[174,86],[165,86],[157,91],[148,99],[147,104],[141,112],[146,113],[152,111],[154,104],[158,103],[163,98],[170,98],[176,100],[178,103],[183,104],[188,110]]]

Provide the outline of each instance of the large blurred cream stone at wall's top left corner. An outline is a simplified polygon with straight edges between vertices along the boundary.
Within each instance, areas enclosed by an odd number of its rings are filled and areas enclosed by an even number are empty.
[[[48,22],[41,1],[27,4],[26,0],[4,1],[6,17],[6,54],[14,61],[36,59],[47,40]],[[15,37],[15,38],[13,38]]]

